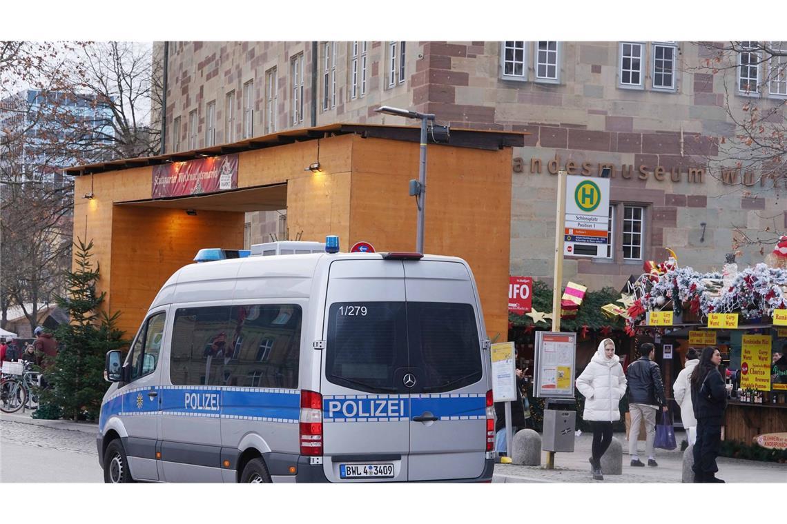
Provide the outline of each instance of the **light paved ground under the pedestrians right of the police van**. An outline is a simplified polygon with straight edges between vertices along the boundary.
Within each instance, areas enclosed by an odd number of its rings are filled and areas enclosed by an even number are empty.
[[[604,482],[681,482],[683,453],[680,443],[685,440],[682,431],[676,431],[678,449],[656,449],[658,467],[631,467],[625,433],[616,433],[623,444],[623,475],[604,475]],[[556,453],[555,469],[541,466],[515,466],[496,464],[493,482],[600,482],[590,475],[590,446],[593,435],[585,433],[575,439],[574,453]],[[639,443],[640,460],[647,462],[645,442]],[[541,464],[546,464],[546,453],[541,454]],[[719,458],[717,476],[727,482],[787,482],[787,464]]]

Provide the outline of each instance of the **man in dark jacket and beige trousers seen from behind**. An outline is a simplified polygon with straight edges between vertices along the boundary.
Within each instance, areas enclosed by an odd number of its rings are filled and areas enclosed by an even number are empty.
[[[661,369],[653,358],[656,349],[651,343],[641,344],[641,357],[626,369],[628,380],[629,412],[631,414],[631,431],[629,432],[629,456],[632,466],[645,466],[637,455],[640,421],[645,419],[645,452],[648,453],[648,466],[656,467],[656,456],[653,441],[656,439],[656,412],[661,405],[667,411],[667,398],[664,396],[664,384],[661,381]]]

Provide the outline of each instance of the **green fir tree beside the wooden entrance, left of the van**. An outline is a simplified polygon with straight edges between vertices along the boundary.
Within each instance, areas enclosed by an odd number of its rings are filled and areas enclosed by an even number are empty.
[[[96,294],[100,277],[91,262],[93,241],[74,243],[75,269],[66,275],[66,295],[57,297],[57,306],[71,318],[55,332],[58,342],[54,366],[46,373],[51,387],[42,392],[42,402],[61,409],[72,420],[95,419],[107,389],[104,380],[105,355],[127,344],[116,328],[119,312],[112,316],[100,311],[105,293]],[[51,409],[51,408],[50,408]],[[54,410],[57,411],[57,410]]]

